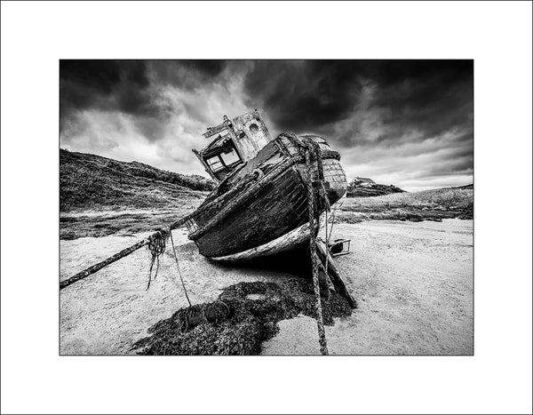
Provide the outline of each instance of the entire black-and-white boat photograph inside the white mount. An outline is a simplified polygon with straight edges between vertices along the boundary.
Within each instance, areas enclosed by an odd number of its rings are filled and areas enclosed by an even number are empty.
[[[473,60],[61,60],[61,355],[472,355]]]

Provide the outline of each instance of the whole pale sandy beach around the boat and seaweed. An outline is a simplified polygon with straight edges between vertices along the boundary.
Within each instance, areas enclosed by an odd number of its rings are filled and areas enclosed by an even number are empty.
[[[108,235],[60,241],[61,279],[147,235]],[[185,229],[173,233],[180,269],[193,303],[213,301],[239,282],[279,282],[280,269],[227,266],[198,254]],[[472,355],[473,224],[365,221],[338,224],[335,238],[351,238],[352,253],[338,257],[358,308],[326,328],[330,354]],[[147,329],[187,299],[170,251],[147,291],[145,249],[60,291],[61,355],[130,354]],[[318,354],[316,324],[299,315],[280,323],[264,355]]]

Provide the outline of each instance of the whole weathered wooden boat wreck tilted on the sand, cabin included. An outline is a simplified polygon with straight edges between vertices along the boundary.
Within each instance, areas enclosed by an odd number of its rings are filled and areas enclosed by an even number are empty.
[[[210,259],[254,259],[301,247],[310,238],[307,187],[322,180],[322,197],[318,192],[314,201],[319,216],[346,194],[340,155],[326,140],[292,132],[273,140],[257,110],[225,116],[203,135],[210,144],[193,151],[219,185],[186,225]],[[310,164],[308,148],[315,149]]]

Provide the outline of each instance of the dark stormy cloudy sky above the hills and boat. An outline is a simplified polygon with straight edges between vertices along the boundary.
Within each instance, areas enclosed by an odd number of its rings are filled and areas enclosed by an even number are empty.
[[[206,175],[191,148],[258,108],[275,136],[314,132],[349,179],[410,191],[473,175],[471,60],[62,60],[60,145]]]

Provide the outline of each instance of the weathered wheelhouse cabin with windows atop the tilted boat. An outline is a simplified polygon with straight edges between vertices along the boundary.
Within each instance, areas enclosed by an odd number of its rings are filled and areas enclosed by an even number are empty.
[[[222,124],[208,128],[203,137],[210,144],[193,152],[217,182],[255,157],[272,140],[257,109],[231,120],[224,116]]]

